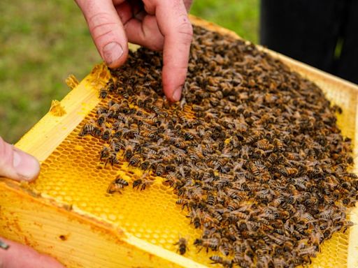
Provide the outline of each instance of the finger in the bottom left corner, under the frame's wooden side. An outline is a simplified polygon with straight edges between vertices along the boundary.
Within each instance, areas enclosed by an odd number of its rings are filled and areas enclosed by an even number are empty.
[[[0,238],[8,244],[8,249],[0,248],[1,268],[64,268],[57,260],[42,255],[28,246]]]

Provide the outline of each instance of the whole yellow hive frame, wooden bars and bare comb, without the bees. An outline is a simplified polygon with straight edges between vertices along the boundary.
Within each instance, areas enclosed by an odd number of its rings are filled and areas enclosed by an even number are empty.
[[[192,22],[236,36],[194,17]],[[357,156],[358,87],[266,51],[316,82],[332,103],[343,108],[338,125],[354,141]],[[73,90],[58,104],[65,113],[59,116],[53,108],[17,142],[16,147],[41,161],[41,174],[31,184],[0,179],[0,235],[48,253],[66,267],[214,267],[210,253],[198,253],[192,246],[200,230],[189,225],[186,211],[176,205],[176,195],[160,177],[145,191],[127,187],[122,195],[106,193],[117,174],[127,181],[142,174],[124,161],[120,170],[104,168],[99,163],[101,143],[91,136],[78,137],[84,122],[94,116],[101,101],[99,88],[108,77],[103,65],[95,66],[80,84],[72,77]],[[356,173],[357,162],[356,157]],[[352,209],[350,218],[358,223],[358,208]],[[179,237],[189,239],[184,256],[173,245]],[[357,226],[334,234],[310,267],[358,267],[357,240]]]

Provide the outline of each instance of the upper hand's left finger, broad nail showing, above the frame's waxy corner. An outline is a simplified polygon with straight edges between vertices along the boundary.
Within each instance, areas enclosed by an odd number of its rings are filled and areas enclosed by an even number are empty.
[[[87,20],[94,44],[110,68],[124,64],[128,41],[120,17],[110,0],[76,0]]]

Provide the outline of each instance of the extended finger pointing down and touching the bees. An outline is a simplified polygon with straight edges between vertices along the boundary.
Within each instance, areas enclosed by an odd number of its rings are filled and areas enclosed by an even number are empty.
[[[170,101],[179,101],[182,85],[187,76],[193,34],[192,24],[187,17],[187,10],[182,0],[156,0],[155,16],[164,36],[162,72],[164,94]]]

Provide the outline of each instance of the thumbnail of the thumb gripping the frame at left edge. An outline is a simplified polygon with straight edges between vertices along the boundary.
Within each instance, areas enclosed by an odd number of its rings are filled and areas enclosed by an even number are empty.
[[[40,172],[40,165],[36,158],[16,148],[13,151],[13,168],[17,174],[26,180],[36,178]]]

